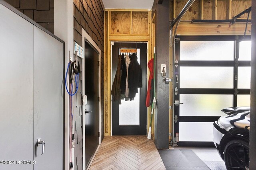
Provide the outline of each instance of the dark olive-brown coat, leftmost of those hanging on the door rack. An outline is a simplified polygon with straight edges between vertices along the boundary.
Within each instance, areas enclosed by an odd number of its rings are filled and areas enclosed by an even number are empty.
[[[120,98],[120,94],[121,94],[121,90],[120,90],[120,80],[121,80],[121,54],[118,56],[118,62],[117,62],[117,69],[116,69],[116,75],[114,78],[114,82],[112,85],[112,90],[111,93],[112,94],[112,101],[118,101],[119,104],[121,104],[121,98]]]

